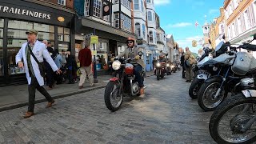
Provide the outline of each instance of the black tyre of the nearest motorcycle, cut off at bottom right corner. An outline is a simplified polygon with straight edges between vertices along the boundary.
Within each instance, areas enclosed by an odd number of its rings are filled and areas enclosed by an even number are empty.
[[[225,139],[223,139],[218,131],[218,124],[222,120],[222,117],[232,108],[246,104],[256,104],[256,98],[245,98],[243,94],[237,94],[235,96],[230,97],[229,99],[226,99],[218,108],[214,111],[210,118],[209,122],[209,130],[210,130],[210,136],[214,138],[215,142],[218,143],[252,143],[256,141],[256,135],[253,138],[250,138],[246,140],[245,142],[227,142]],[[235,139],[235,138],[234,138]],[[229,139],[230,140],[230,139]]]

